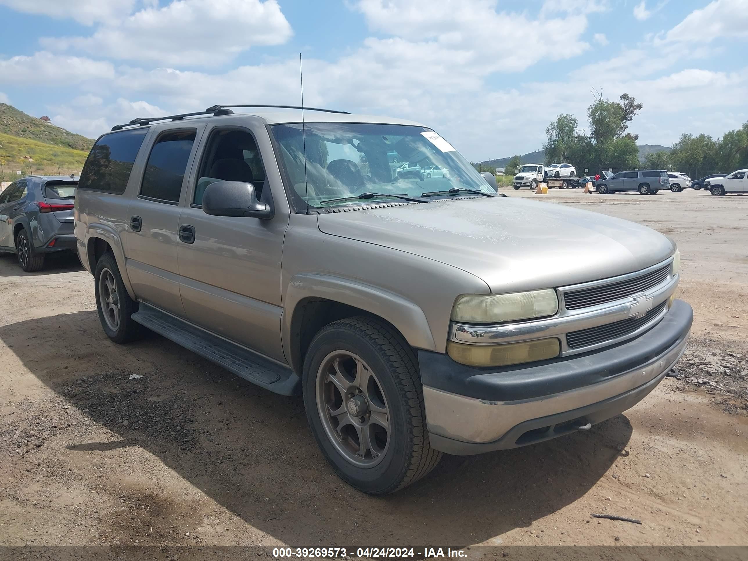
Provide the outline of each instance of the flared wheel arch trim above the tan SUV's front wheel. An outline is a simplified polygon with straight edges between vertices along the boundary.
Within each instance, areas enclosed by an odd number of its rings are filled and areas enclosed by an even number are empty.
[[[290,279],[283,303],[281,335],[286,357],[292,357],[294,310],[299,302],[306,298],[324,298],[361,308],[394,325],[415,349],[436,350],[434,337],[423,310],[401,295],[349,278],[300,273]]]

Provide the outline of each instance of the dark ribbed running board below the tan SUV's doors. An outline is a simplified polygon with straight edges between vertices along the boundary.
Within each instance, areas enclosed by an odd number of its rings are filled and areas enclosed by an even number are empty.
[[[209,334],[153,306],[141,302],[140,309],[132,314],[132,319],[253,384],[283,396],[301,393],[301,379],[290,368]]]

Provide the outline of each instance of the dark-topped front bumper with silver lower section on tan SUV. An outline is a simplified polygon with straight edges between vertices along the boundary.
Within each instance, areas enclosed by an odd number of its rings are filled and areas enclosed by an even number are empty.
[[[477,383],[470,384],[468,380],[465,384],[465,393],[484,393],[496,388],[498,392],[506,392],[509,399],[453,393],[445,387],[456,387],[454,379],[445,381],[441,388],[429,385],[429,381],[439,381],[438,375],[434,375],[438,370],[434,365],[438,363],[420,353],[419,359],[422,356],[426,359],[420,363],[432,447],[464,456],[525,446],[589,428],[588,424],[599,423],[633,407],[657,386],[686,348],[693,312],[685,302],[675,302],[677,305],[660,325],[622,346],[545,367],[506,373],[479,371],[475,376]],[[653,345],[657,345],[656,352],[652,351]],[[637,364],[616,372],[616,365],[639,354]],[[564,376],[557,375],[563,374],[562,367],[568,370],[568,387],[563,387]],[[583,368],[593,373],[586,373],[586,378],[577,377]],[[538,380],[551,370],[556,372]],[[586,381],[580,383],[581,379]],[[475,389],[479,384],[482,390]]]

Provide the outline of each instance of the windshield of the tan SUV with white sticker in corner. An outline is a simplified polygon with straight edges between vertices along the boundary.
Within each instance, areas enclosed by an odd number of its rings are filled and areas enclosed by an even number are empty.
[[[429,196],[444,196],[441,191],[450,188],[496,194],[444,138],[420,126],[307,123],[304,130],[301,123],[291,123],[270,128],[298,209],[393,200],[379,194],[421,197],[439,191]],[[364,193],[377,195],[339,200]]]

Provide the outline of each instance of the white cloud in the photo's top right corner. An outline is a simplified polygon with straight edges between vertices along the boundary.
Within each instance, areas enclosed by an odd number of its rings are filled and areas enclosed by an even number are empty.
[[[714,0],[688,14],[664,40],[690,43],[693,37],[705,42],[717,37],[748,37],[748,1]]]

